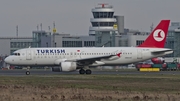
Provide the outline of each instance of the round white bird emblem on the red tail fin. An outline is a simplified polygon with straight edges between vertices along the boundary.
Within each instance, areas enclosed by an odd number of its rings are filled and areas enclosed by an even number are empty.
[[[156,41],[162,41],[165,38],[165,33],[161,29],[157,29],[153,33],[153,37]]]

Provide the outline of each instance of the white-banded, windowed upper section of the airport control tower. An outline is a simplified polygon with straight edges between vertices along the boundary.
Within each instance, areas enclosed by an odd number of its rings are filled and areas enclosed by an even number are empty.
[[[89,35],[95,36],[96,31],[117,31],[114,9],[108,4],[98,4],[92,9],[93,17],[90,19]]]

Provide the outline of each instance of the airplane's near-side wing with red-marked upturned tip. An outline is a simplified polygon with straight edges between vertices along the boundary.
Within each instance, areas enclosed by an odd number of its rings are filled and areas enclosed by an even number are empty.
[[[90,58],[81,58],[81,59],[74,59],[74,60],[66,60],[67,62],[77,62],[79,65],[89,65],[89,64],[103,64],[101,59],[115,59],[119,58],[121,53],[114,54],[114,55],[104,55],[104,56],[97,56],[97,57],[90,57]]]

